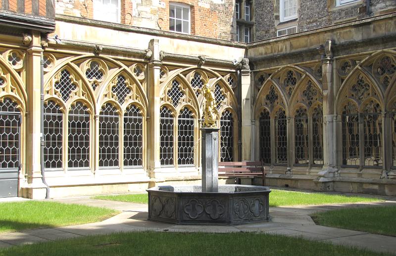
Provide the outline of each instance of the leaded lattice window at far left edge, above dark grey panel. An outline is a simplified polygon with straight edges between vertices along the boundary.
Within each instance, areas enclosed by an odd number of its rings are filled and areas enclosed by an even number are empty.
[[[17,104],[8,98],[0,103],[0,169],[19,167],[19,120]]]

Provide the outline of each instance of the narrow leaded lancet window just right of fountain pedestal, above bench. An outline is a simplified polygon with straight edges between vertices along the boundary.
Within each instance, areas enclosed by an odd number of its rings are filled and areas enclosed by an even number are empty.
[[[221,162],[232,162],[234,161],[234,119],[229,110],[221,115],[220,129]]]

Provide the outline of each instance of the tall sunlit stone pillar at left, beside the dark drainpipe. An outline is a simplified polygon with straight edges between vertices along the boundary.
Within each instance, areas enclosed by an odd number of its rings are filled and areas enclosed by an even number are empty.
[[[28,94],[27,125],[26,125],[26,177],[27,184],[21,185],[21,192],[31,199],[46,198],[46,185],[41,174],[41,37],[39,32],[32,32],[32,42],[27,49],[27,79]]]

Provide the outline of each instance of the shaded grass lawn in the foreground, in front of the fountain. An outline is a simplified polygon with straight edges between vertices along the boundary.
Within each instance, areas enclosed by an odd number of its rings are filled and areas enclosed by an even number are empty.
[[[367,250],[259,233],[132,232],[74,238],[0,250],[0,256],[20,255],[265,255],[369,256]]]

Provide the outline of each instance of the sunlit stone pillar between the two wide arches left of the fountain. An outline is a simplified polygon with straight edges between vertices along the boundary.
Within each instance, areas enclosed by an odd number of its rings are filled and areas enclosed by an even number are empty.
[[[147,109],[147,163],[149,176],[154,178],[155,171],[159,171],[161,167],[160,156],[160,134],[159,122],[160,112],[160,81],[159,73],[161,71],[161,61],[159,57],[159,42],[157,39],[150,40],[148,49],[152,52],[148,62],[148,109]]]

